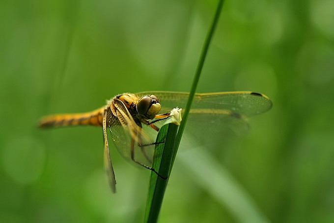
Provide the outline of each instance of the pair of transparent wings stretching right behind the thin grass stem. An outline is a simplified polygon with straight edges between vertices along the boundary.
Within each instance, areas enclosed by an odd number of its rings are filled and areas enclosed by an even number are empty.
[[[142,92],[138,96],[149,94],[160,99],[160,113],[174,107],[185,109],[189,97],[180,92]],[[249,129],[248,117],[271,107],[267,96],[253,92],[195,94],[181,147],[217,144],[242,135]]]

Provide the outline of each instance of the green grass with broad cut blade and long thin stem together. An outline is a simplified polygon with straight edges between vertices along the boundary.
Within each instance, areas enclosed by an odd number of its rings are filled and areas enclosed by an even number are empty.
[[[158,171],[158,173],[162,176],[170,175],[170,172],[171,172],[171,169],[172,169],[175,157],[176,157],[177,149],[181,141],[182,133],[183,133],[183,130],[184,130],[184,127],[185,127],[185,124],[186,124],[186,121],[187,121],[187,118],[190,112],[190,108],[191,108],[191,105],[192,105],[192,102],[195,96],[197,84],[199,81],[200,74],[202,72],[206,54],[208,52],[210,42],[212,40],[214,31],[216,29],[222,7],[223,7],[223,0],[220,0],[217,6],[214,20],[211,24],[211,27],[209,29],[209,32],[204,42],[202,53],[201,53],[201,56],[200,56],[200,59],[199,59],[199,62],[196,68],[192,89],[190,92],[190,96],[188,98],[185,113],[182,116],[182,122],[179,127],[179,130],[177,131],[178,126],[174,124],[168,124],[168,125],[163,126],[158,133],[156,142],[164,141],[165,143],[156,145],[155,152],[154,152],[154,156],[156,159],[153,159],[152,167],[156,171]],[[164,140],[165,137],[166,139]],[[167,182],[168,182],[168,179],[164,180],[161,177],[158,177],[154,172],[151,173],[150,188],[148,191],[148,198],[147,198],[147,204],[146,204],[145,222],[147,223],[157,222],[158,216],[160,213],[160,209],[161,209],[161,205],[164,199]]]

